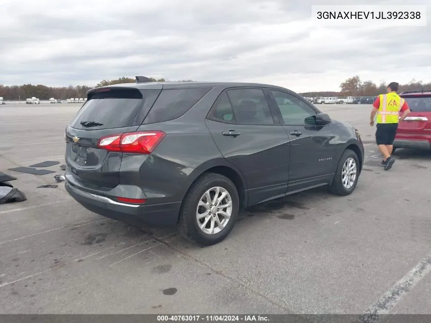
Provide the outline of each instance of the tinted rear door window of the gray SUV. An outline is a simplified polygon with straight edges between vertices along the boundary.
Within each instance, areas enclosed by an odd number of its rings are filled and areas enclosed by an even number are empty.
[[[248,125],[272,125],[271,111],[261,89],[227,90],[236,123]]]

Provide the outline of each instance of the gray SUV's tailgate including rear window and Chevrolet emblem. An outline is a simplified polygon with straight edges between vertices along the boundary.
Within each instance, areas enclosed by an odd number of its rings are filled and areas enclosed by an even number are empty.
[[[109,190],[120,182],[122,153],[98,147],[101,137],[135,132],[160,90],[102,88],[88,100],[66,128],[66,164],[83,187]]]

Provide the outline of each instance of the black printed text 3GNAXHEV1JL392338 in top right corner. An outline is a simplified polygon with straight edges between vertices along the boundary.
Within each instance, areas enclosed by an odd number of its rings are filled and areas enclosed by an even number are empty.
[[[420,19],[420,11],[318,11],[317,19]]]

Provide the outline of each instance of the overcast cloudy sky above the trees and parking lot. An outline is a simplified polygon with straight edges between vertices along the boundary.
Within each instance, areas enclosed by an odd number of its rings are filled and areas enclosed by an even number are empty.
[[[355,74],[377,84],[431,81],[431,14],[427,27],[322,27],[311,18],[311,5],[349,2],[0,0],[0,84],[144,75],[301,92],[338,90]],[[431,0],[413,3],[431,12]]]

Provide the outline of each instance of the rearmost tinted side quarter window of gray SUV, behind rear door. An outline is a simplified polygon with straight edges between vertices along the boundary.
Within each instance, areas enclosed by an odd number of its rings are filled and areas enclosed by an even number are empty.
[[[144,123],[173,120],[189,111],[211,88],[162,90]]]

